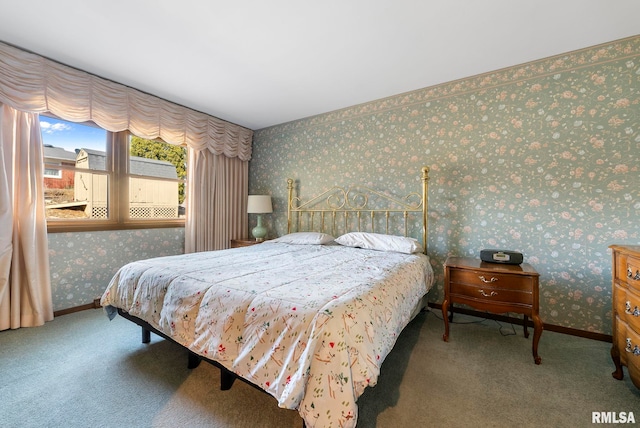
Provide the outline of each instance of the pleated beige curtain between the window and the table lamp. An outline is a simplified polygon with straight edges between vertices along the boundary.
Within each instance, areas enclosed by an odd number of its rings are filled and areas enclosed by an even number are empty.
[[[189,152],[185,252],[228,248],[246,237],[249,163],[208,150]]]

